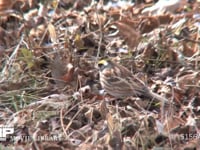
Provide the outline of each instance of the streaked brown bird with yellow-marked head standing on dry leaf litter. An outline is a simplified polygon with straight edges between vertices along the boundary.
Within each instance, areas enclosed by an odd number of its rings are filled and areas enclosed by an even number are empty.
[[[103,59],[98,62],[98,68],[100,84],[111,96],[116,98],[136,96],[169,103],[166,98],[152,92],[143,81],[134,76],[126,67],[120,64]]]

